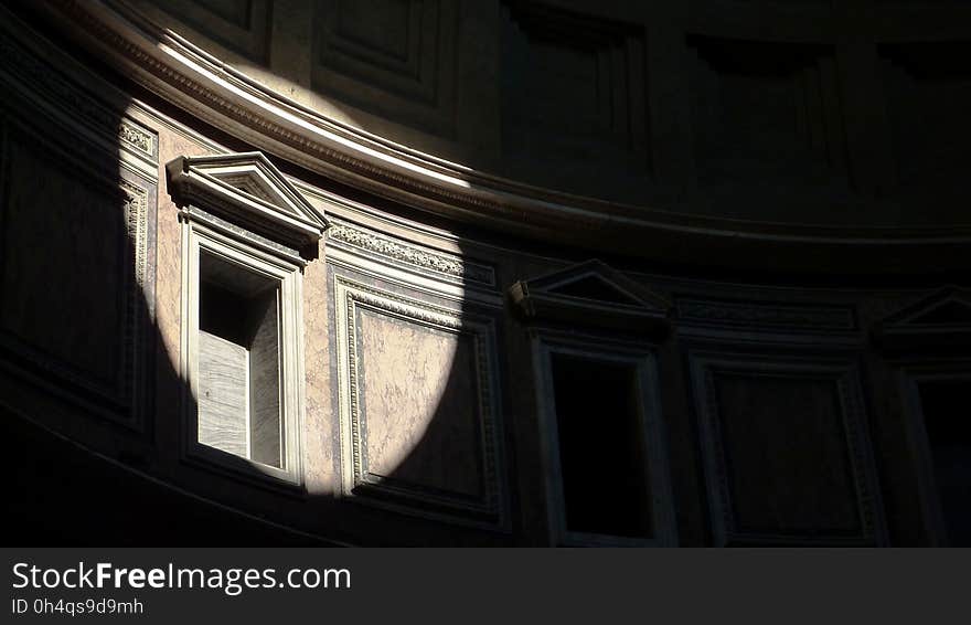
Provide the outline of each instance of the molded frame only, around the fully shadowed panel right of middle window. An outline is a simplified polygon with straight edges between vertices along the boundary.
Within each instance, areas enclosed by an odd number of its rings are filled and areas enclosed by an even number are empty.
[[[712,522],[716,542],[726,544],[883,544],[886,528],[883,518],[876,469],[867,436],[863,390],[857,364],[846,358],[807,358],[800,354],[759,356],[729,351],[691,352],[689,354],[694,400],[701,419],[702,451]],[[811,532],[792,533],[741,528],[736,518],[727,452],[723,435],[722,406],[716,390],[719,374],[744,375],[753,380],[754,389],[759,380],[787,380],[815,383],[824,381],[839,399],[839,419],[844,430],[840,437],[853,474],[854,506],[861,525],[858,536],[826,534],[813,529]],[[820,458],[820,463],[826,462]],[[794,485],[798,486],[798,485]]]

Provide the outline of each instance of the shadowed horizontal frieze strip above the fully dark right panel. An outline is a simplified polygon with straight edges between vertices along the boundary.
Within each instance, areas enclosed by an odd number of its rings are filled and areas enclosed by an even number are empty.
[[[856,329],[853,309],[841,306],[753,304],[684,297],[677,298],[676,310],[679,324],[788,330]]]

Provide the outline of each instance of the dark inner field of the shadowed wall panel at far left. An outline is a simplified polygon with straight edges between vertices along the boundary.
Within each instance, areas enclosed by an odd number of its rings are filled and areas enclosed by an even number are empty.
[[[126,197],[77,176],[17,130],[4,160],[0,327],[118,392],[117,329],[130,272]]]

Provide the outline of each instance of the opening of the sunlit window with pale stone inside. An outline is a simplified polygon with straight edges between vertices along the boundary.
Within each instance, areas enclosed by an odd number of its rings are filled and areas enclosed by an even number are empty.
[[[284,467],[279,280],[203,252],[199,442]]]

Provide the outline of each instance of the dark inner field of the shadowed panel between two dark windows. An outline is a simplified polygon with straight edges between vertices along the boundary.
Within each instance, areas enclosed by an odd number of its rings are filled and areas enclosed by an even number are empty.
[[[818,540],[861,536],[839,381],[719,371],[713,383],[738,530]]]

